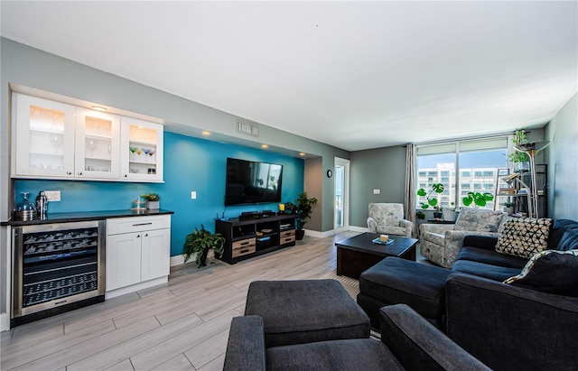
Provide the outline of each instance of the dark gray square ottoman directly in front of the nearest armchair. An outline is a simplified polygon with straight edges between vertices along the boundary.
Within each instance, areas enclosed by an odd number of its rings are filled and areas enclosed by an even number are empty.
[[[266,348],[369,338],[368,315],[335,280],[256,281],[245,315],[263,318]]]

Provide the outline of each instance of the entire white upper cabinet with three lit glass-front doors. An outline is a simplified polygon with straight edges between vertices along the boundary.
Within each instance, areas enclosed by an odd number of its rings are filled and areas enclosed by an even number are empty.
[[[14,178],[163,181],[163,125],[13,94]]]

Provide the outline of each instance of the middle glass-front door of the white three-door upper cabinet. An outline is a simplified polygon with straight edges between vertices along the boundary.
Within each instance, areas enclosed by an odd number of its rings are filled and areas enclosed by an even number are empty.
[[[118,179],[120,117],[76,108],[75,176]]]

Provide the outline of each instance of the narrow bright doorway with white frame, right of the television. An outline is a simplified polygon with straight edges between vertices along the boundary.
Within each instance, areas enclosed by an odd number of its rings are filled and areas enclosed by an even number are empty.
[[[350,161],[335,157],[335,198],[333,230],[341,233],[350,227]]]

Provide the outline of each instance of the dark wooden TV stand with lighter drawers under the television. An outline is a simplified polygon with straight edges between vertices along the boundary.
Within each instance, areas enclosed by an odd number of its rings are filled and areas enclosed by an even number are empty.
[[[215,232],[225,237],[220,260],[235,264],[287,246],[295,246],[295,216],[215,220]]]

